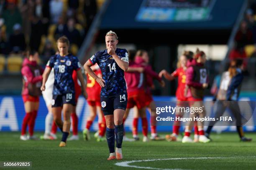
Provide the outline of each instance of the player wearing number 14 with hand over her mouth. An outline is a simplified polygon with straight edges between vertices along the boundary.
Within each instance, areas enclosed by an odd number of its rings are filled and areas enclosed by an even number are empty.
[[[128,52],[116,47],[118,36],[111,30],[106,34],[105,42],[107,49],[92,55],[84,64],[84,69],[102,87],[100,101],[107,124],[106,136],[110,151],[108,160],[122,160],[123,115],[127,106],[124,71],[129,66]],[[90,68],[95,63],[100,67],[102,78],[95,75]]]

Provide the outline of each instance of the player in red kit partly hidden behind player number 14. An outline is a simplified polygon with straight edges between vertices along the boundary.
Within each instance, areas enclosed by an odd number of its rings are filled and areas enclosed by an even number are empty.
[[[95,75],[102,78],[100,67],[97,64],[93,65],[91,69],[94,71]],[[103,136],[105,135],[105,132],[106,132],[106,120],[101,110],[101,104],[100,104],[101,87],[88,73],[86,73],[86,75],[87,75],[86,90],[88,94],[87,103],[89,106],[90,115],[89,117],[87,117],[86,127],[83,130],[83,137],[84,137],[84,140],[90,140],[90,133],[89,133],[90,127],[92,126],[92,123],[98,112],[99,130],[96,133],[97,135],[95,135],[95,137],[97,137],[97,141],[100,142],[105,140]]]

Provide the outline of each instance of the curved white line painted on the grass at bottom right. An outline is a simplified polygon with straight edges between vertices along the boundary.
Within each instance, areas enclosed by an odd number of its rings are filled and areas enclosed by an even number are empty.
[[[200,159],[223,159],[223,158],[256,158],[256,156],[248,156],[248,157],[199,157],[199,158],[167,158],[167,159],[152,159],[152,160],[131,160],[131,161],[124,161],[120,163],[115,163],[117,166],[121,167],[130,167],[130,168],[141,168],[141,169],[148,169],[148,170],[184,170],[180,168],[175,169],[165,169],[165,168],[153,168],[153,167],[141,167],[136,165],[128,165],[130,163],[140,163],[140,162],[150,162],[150,161],[158,161],[158,160],[200,160]]]

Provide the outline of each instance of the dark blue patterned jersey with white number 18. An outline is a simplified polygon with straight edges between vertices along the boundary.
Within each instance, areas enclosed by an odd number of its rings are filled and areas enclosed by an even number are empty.
[[[72,73],[79,70],[81,64],[77,57],[68,54],[61,57],[59,54],[54,55],[48,61],[46,67],[54,68],[54,88],[53,95],[64,95],[67,93],[75,93],[74,81]]]

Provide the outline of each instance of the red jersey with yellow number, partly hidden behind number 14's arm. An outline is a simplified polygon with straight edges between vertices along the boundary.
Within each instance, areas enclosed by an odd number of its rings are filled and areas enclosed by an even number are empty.
[[[100,69],[95,70],[94,73],[98,77],[102,77]],[[88,101],[98,101],[100,100],[100,90],[101,87],[88,73],[87,73],[87,87],[86,92],[88,95]]]

